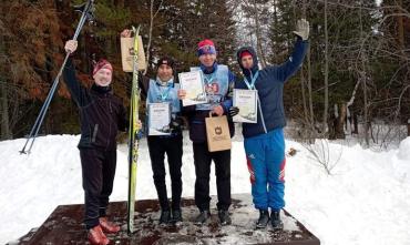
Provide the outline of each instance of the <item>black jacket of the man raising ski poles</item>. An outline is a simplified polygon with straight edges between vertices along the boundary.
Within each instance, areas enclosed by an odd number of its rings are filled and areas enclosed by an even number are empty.
[[[79,149],[116,149],[116,134],[127,126],[126,111],[122,100],[115,96],[111,86],[91,89],[82,86],[75,78],[75,68],[69,59],[63,70],[64,82],[71,98],[80,110],[81,140]]]

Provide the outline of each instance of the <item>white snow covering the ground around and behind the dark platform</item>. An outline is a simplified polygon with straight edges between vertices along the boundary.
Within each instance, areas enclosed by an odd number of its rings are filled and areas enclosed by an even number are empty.
[[[0,244],[38,227],[61,204],[83,202],[76,135],[38,139],[31,155],[20,155],[24,140],[0,142]],[[403,245],[410,241],[410,137],[398,149],[363,150],[358,144],[320,142],[316,152],[329,152],[332,174],[311,157],[308,149],[287,141],[286,208],[324,245]],[[329,149],[329,151],[327,151]],[[185,137],[183,196],[194,195],[195,172],[191,142]],[[232,192],[249,193],[243,143],[233,144]],[[127,192],[126,146],[117,154],[113,201]],[[212,173],[211,193],[216,194]],[[170,185],[168,185],[170,186]],[[142,141],[137,198],[155,198],[152,171]],[[252,214],[254,215],[254,214]]]

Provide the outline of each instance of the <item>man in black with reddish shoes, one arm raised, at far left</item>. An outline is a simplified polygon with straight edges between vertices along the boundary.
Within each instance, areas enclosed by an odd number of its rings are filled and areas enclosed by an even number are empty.
[[[73,53],[76,41],[65,43]],[[85,196],[85,227],[91,244],[109,244],[104,233],[116,233],[120,226],[106,220],[106,207],[112,193],[116,166],[116,134],[125,131],[126,112],[120,98],[110,86],[112,65],[100,60],[93,70],[94,84],[82,86],[75,78],[71,58],[64,68],[64,82],[80,110],[80,149],[83,188]]]

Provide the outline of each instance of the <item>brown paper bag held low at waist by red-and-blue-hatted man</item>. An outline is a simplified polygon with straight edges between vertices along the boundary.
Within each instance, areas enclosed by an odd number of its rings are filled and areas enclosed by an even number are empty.
[[[212,116],[209,113],[209,118],[205,119],[205,125],[209,152],[225,151],[232,147],[228,120],[226,115]]]

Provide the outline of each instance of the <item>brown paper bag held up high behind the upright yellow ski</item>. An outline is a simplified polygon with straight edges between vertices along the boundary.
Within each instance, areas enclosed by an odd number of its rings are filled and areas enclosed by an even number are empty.
[[[141,35],[136,37],[139,42],[139,71],[146,70],[145,52]],[[134,38],[121,38],[121,58],[122,70],[124,72],[133,71],[133,53],[134,53]]]

